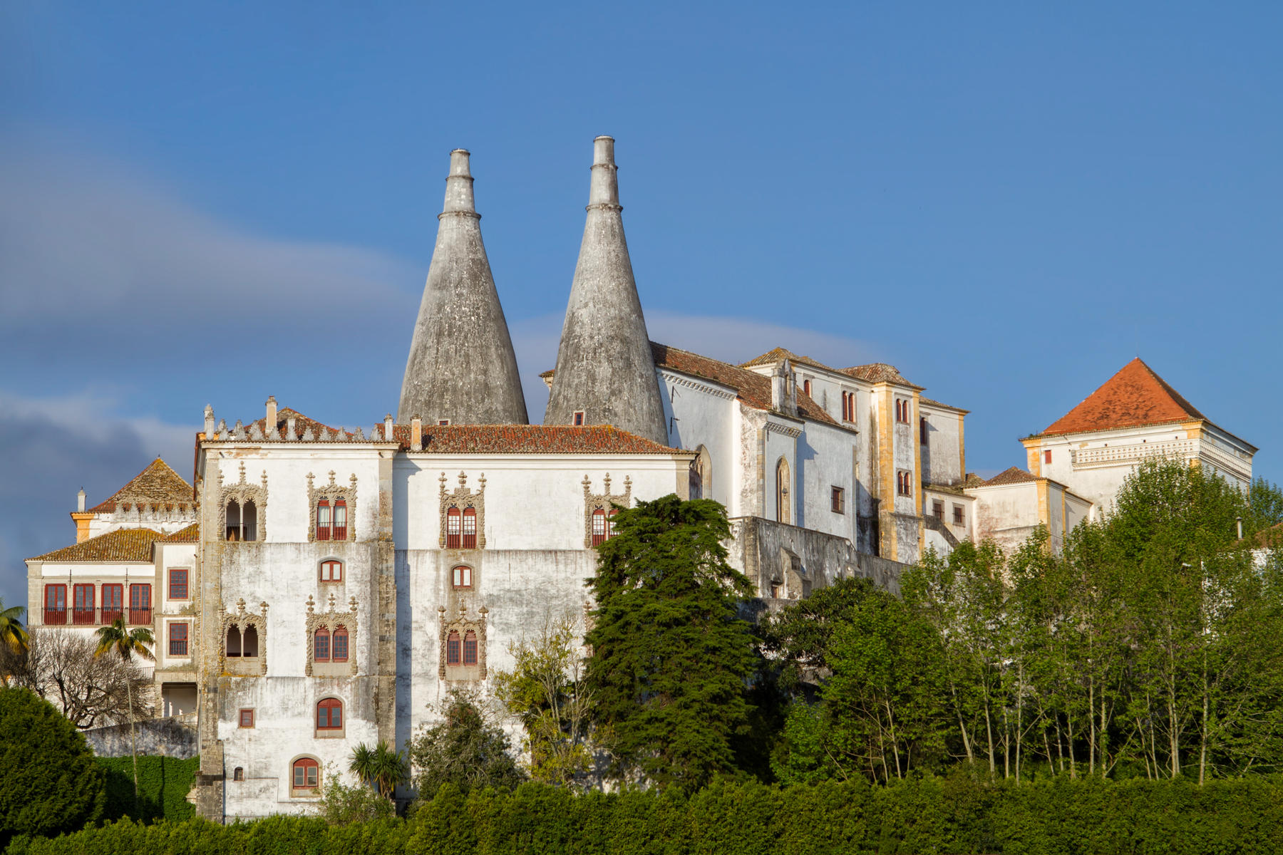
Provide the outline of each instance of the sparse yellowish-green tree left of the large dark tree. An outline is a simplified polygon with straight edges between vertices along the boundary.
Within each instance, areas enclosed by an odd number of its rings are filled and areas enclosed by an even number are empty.
[[[593,764],[580,636],[574,615],[549,615],[536,638],[508,645],[512,670],[494,674],[495,696],[526,731],[531,777],[544,783],[572,784]]]

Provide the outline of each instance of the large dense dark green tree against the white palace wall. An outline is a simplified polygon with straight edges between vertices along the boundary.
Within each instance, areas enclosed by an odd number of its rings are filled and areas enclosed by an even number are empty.
[[[725,509],[675,495],[615,517],[589,579],[588,683],[616,774],[694,790],[733,772],[754,667],[752,595],[726,563]]]

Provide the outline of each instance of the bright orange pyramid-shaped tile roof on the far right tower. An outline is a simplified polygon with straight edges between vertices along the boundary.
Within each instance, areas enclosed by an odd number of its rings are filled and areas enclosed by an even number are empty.
[[[1041,435],[1083,433],[1203,419],[1202,413],[1135,358]]]

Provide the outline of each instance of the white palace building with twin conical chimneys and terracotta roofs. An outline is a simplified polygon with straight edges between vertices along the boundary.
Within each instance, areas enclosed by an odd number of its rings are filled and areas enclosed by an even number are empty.
[[[618,200],[598,137],[541,424],[457,150],[395,418],[205,408],[190,483],[158,459],[89,510],[81,494],[77,542],[27,561],[33,632],[151,628],[158,709],[198,731],[201,814],[309,810],[355,745],[400,746],[450,688],[485,691],[511,642],[586,614],[593,547],[639,499],[725,505],[730,560],[772,609],[848,576],[896,590],[962,541],[1058,544],[1150,452],[1251,477],[1255,449],[1138,360],[1023,440],[1028,470],[981,481],[967,410],[892,365],[654,342]]]

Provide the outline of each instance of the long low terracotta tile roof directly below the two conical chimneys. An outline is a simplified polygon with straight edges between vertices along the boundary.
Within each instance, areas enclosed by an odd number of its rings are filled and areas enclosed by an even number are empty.
[[[411,446],[411,426],[393,437]],[[680,454],[609,424],[425,424],[423,451],[432,454]]]

